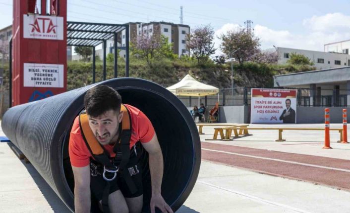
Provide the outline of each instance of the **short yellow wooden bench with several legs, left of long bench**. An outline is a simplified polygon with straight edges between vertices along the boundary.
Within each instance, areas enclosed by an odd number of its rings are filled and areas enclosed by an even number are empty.
[[[237,135],[237,136],[249,135],[248,129],[244,129],[244,128],[247,128],[248,126],[249,125],[247,124],[237,124],[230,127],[214,128],[213,139],[206,139],[206,140],[217,140],[219,133],[222,140],[230,140],[232,131],[234,132],[234,135]],[[225,130],[225,134],[224,134],[224,130]],[[239,130],[239,132],[237,130]]]

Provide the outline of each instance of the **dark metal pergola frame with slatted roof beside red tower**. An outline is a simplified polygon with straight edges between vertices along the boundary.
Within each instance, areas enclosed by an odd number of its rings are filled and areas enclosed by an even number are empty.
[[[103,80],[106,80],[106,49],[107,40],[114,37],[114,77],[117,78],[117,35],[125,30],[125,76],[129,77],[129,25],[103,24],[91,22],[67,21],[67,46],[91,46],[92,51],[92,82],[96,82],[96,49],[103,44]]]

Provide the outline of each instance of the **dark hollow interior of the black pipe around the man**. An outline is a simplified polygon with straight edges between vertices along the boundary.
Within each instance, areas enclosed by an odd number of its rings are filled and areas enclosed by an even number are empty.
[[[111,86],[113,87],[113,85]],[[115,89],[120,93],[122,103],[137,107],[152,122],[164,158],[162,195],[168,204],[174,204],[186,190],[193,172],[198,172],[193,171],[196,161],[195,157],[197,156],[195,154],[193,132],[191,132],[193,131],[193,127],[189,127],[188,122],[186,122],[185,119],[186,117],[183,115],[188,112],[179,111],[178,107],[169,101],[168,98],[152,90],[137,87],[125,88],[125,86],[115,87]],[[81,104],[75,106],[77,111],[80,111],[79,109],[83,108]],[[70,190],[71,193],[73,193],[74,177],[68,154],[68,141],[71,126],[72,123],[67,127],[68,130],[62,141],[62,165],[65,181],[69,186],[67,190]],[[151,178],[148,168],[148,154],[145,150],[143,150],[142,153],[141,164],[143,167],[144,191],[143,212],[149,212]],[[197,174],[194,176],[196,175]],[[179,208],[179,206],[175,208]]]

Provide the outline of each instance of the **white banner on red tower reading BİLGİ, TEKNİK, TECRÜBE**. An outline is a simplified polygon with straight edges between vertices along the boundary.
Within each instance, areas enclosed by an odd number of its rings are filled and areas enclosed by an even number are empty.
[[[24,86],[63,87],[63,64],[24,63]]]

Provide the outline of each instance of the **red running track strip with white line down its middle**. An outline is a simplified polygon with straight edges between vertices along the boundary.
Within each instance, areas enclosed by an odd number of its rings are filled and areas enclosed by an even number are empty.
[[[202,142],[201,145],[202,159],[204,160],[350,190],[349,160],[268,151],[208,142]],[[318,166],[327,168],[319,168]]]

